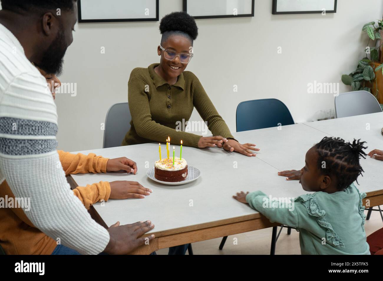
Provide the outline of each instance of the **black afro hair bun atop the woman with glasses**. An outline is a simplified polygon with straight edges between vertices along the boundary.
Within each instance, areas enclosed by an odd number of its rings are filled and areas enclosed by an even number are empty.
[[[160,32],[181,31],[188,34],[193,40],[198,36],[198,27],[195,19],[185,12],[173,12],[164,16],[160,22]]]

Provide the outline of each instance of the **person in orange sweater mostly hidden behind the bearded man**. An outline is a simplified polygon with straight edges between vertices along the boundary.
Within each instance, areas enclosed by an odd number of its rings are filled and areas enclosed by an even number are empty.
[[[102,158],[93,153],[84,155],[57,151],[65,175],[125,171],[136,173],[134,161],[121,157]],[[94,203],[109,199],[145,198],[152,190],[134,181],[98,182],[77,187],[74,195],[88,210]],[[0,185],[0,198],[15,198],[6,181]],[[0,245],[8,255],[79,255],[76,250],[61,245],[60,240],[47,236],[25,215],[22,208],[0,208]],[[115,224],[118,226],[119,224]]]

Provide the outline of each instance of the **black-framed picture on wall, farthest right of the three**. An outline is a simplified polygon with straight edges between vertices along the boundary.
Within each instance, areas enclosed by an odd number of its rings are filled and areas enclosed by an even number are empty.
[[[273,0],[273,15],[336,13],[337,0]]]

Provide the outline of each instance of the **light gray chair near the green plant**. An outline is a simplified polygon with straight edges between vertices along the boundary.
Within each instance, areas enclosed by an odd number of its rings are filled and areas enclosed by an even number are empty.
[[[367,91],[354,91],[335,97],[336,118],[382,112],[379,102]]]

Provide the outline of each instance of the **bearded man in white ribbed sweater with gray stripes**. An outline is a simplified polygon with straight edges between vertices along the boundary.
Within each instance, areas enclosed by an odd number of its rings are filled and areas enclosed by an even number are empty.
[[[6,181],[15,197],[30,198],[31,208],[25,212],[29,221],[79,253],[126,254],[144,245],[144,234],[154,228],[151,221],[105,229],[70,190],[56,151],[56,105],[46,80],[31,64],[46,73],[61,72],[73,41],[76,1],[1,4],[0,188]]]

